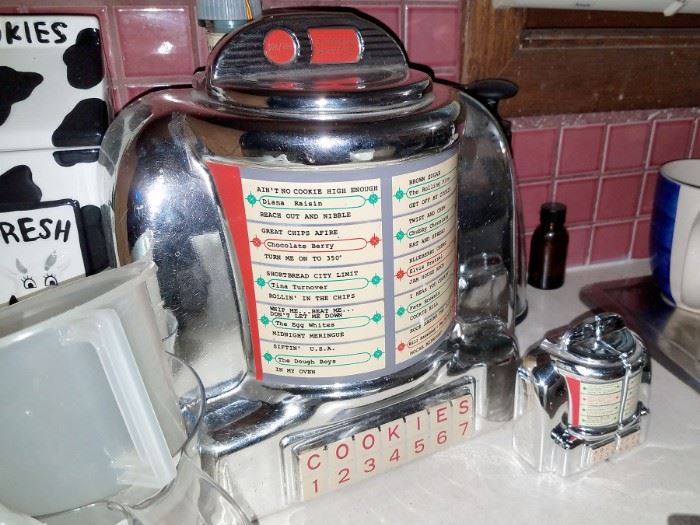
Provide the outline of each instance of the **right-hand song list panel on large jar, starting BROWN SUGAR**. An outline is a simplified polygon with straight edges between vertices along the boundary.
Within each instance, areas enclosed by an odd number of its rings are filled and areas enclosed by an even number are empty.
[[[396,362],[430,348],[454,317],[457,158],[392,178]]]

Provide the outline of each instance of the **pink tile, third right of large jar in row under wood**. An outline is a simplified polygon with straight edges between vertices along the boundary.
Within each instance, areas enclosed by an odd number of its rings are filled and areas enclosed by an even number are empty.
[[[610,126],[605,171],[620,171],[644,167],[649,147],[651,126],[621,124]]]

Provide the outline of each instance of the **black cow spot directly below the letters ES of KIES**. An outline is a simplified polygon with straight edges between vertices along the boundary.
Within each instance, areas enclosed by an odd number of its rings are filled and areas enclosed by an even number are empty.
[[[67,67],[68,83],[76,89],[90,89],[100,83],[104,76],[102,53],[100,51],[100,31],[83,29],[75,39],[75,44],[63,53]]]

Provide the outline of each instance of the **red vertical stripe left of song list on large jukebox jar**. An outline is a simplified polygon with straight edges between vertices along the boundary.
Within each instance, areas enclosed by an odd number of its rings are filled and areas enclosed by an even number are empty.
[[[226,222],[231,232],[231,241],[236,252],[236,258],[243,277],[246,306],[248,309],[248,324],[250,340],[253,345],[255,361],[255,378],[262,380],[262,356],[260,355],[260,332],[258,331],[258,312],[255,302],[255,283],[253,282],[253,264],[250,258],[250,240],[248,239],[248,223],[243,207],[243,187],[241,173],[237,166],[207,162],[209,171],[214,178],[214,185],[221,200]]]

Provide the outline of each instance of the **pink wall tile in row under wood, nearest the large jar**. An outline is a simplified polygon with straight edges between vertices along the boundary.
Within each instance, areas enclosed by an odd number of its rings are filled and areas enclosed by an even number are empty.
[[[513,134],[515,174],[519,181],[552,176],[558,131],[535,129]]]

